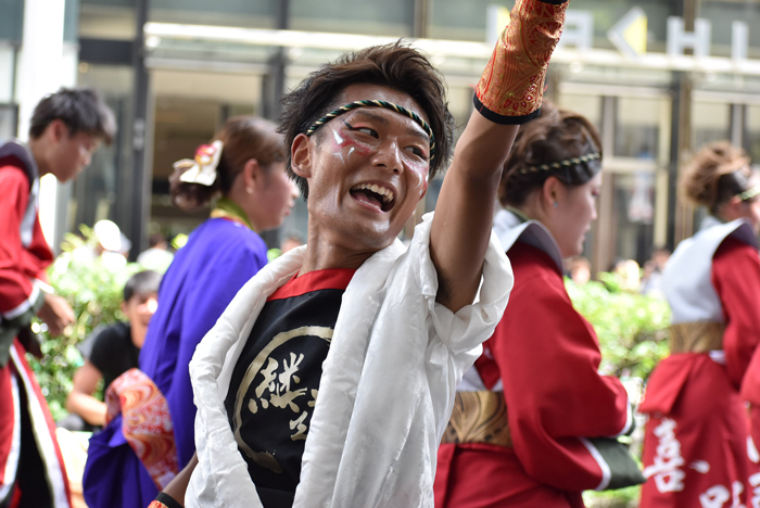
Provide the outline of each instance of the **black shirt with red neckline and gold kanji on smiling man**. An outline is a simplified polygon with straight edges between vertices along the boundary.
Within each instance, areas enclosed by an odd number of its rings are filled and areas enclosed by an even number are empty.
[[[341,299],[354,270],[293,278],[262,308],[225,407],[265,508],[291,507]]]

